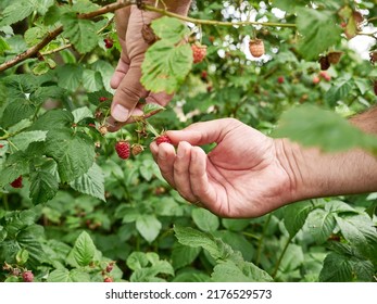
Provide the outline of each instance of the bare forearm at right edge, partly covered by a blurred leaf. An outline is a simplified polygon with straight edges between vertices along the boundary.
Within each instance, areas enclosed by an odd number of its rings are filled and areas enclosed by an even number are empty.
[[[350,123],[365,132],[377,134],[377,107],[356,115]],[[377,191],[377,157],[361,149],[323,153],[289,140],[280,142],[292,180],[290,201]],[[284,162],[282,162],[284,163]]]

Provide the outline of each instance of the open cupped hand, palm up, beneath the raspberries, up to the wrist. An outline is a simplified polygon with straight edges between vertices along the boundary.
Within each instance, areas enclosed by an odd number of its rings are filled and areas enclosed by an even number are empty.
[[[291,173],[280,144],[233,118],[167,131],[168,143],[151,143],[163,177],[179,194],[223,217],[256,217],[291,202]],[[209,153],[197,147],[216,142]],[[284,159],[284,157],[282,157]]]

